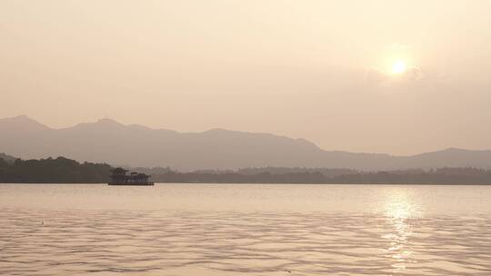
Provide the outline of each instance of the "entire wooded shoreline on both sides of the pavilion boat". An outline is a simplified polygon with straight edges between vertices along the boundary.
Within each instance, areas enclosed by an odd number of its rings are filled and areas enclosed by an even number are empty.
[[[5,161],[0,157],[0,182],[105,183],[114,169],[106,163],[78,163],[65,157]],[[439,168],[358,172],[326,168],[246,168],[238,171],[179,173],[170,168],[140,168],[154,182],[174,183],[378,183],[378,184],[491,184],[491,170]],[[145,169],[145,170],[144,170]]]

